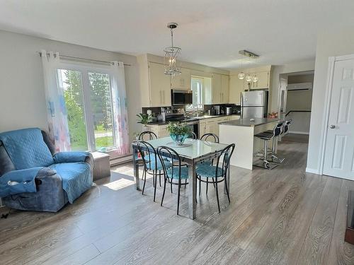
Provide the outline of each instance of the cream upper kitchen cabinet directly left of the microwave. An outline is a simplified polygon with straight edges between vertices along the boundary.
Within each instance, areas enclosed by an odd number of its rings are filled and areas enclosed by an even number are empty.
[[[149,62],[149,106],[171,106],[171,79],[163,64]]]

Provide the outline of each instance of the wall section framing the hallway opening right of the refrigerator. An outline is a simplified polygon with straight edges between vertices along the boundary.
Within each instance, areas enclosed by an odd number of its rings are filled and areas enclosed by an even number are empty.
[[[294,73],[311,70],[314,70],[314,59],[300,61],[292,64],[273,66],[271,79],[272,93],[270,99],[270,112],[278,112],[279,75],[281,73]]]

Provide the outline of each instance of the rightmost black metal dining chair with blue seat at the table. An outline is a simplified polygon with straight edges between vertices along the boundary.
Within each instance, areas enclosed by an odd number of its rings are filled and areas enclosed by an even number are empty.
[[[215,191],[217,194],[217,208],[220,213],[220,203],[219,203],[219,191],[217,184],[220,182],[225,182],[225,189],[227,192],[227,199],[229,199],[229,187],[227,187],[227,170],[229,170],[230,159],[232,157],[232,153],[234,153],[235,144],[232,143],[229,146],[225,147],[217,156],[216,165],[210,165],[209,163],[202,163],[196,169],[197,179],[200,182],[205,183],[213,183],[215,184]],[[210,180],[212,179],[212,180]]]

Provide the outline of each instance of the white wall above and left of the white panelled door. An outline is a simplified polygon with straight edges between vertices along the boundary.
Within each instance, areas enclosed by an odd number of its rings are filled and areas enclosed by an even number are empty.
[[[318,172],[320,163],[321,129],[324,120],[325,90],[329,57],[354,54],[354,28],[328,29],[319,33],[316,47],[312,117],[309,134],[307,170]]]

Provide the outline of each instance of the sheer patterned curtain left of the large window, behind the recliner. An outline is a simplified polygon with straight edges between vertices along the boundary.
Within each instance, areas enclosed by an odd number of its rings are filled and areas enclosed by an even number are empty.
[[[59,53],[41,50],[43,76],[45,83],[45,98],[47,102],[47,119],[49,135],[55,143],[56,151],[70,151],[69,126],[67,123],[67,108],[65,107],[64,91],[57,83],[59,69]]]

